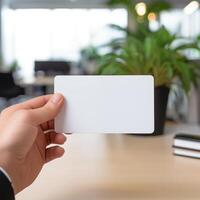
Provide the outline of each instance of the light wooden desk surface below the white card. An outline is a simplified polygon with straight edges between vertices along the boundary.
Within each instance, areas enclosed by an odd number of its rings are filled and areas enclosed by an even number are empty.
[[[74,134],[17,200],[199,199],[200,160],[173,156],[173,135]]]

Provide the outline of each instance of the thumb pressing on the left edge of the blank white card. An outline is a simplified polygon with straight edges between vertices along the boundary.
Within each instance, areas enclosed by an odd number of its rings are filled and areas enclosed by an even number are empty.
[[[61,94],[54,94],[41,108],[31,110],[31,121],[34,125],[43,124],[56,117],[64,102]]]

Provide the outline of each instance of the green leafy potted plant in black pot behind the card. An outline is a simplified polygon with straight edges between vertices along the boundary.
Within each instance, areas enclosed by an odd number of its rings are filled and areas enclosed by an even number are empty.
[[[155,134],[162,134],[170,85],[180,83],[188,93],[197,83],[197,67],[190,63],[183,51],[197,45],[179,38],[164,27],[149,32],[143,38],[128,35],[112,41],[111,51],[102,57],[98,73],[101,75],[153,75],[155,79]]]

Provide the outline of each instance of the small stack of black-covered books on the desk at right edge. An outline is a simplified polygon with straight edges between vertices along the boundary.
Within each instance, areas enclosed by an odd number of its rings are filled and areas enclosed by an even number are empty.
[[[178,134],[173,147],[174,155],[200,159],[200,135]]]

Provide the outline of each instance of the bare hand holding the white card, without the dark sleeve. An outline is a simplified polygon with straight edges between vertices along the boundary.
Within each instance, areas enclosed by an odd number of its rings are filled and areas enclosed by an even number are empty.
[[[0,115],[0,166],[9,174],[15,194],[29,186],[43,165],[61,157],[66,141],[54,131],[62,95],[48,95],[5,109]]]

